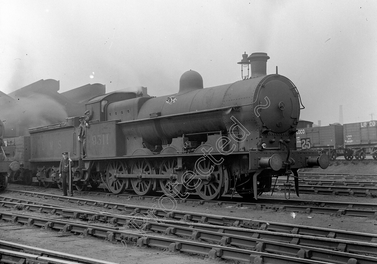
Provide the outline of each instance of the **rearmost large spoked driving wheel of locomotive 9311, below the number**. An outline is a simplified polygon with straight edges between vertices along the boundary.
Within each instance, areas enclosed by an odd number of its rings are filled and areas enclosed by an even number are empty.
[[[112,160],[106,168],[106,183],[113,194],[121,194],[128,185],[127,178],[116,178],[115,173],[127,173],[126,164],[120,160]]]

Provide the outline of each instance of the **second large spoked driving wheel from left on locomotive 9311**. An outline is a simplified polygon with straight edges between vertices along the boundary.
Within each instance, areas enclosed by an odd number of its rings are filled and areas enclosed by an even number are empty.
[[[132,166],[132,174],[144,173],[152,174],[152,165],[147,160],[137,160]],[[131,184],[133,190],[138,195],[146,195],[152,192],[153,179],[132,178]]]

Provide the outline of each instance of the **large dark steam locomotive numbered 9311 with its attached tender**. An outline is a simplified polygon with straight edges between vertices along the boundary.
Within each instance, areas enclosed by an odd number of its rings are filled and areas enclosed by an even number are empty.
[[[189,70],[173,95],[153,97],[136,87],[91,98],[86,157],[77,141],[79,117],[30,129],[38,180],[59,183],[61,153],[69,151],[79,190],[104,183],[115,194],[133,189],[205,200],[235,193],[257,198],[270,191],[273,177],[293,173],[298,195],[297,170],[325,169],[328,156],[296,150],[301,102],[295,85],[267,75],[266,53],[243,57],[250,76],[232,84],[204,89],[201,75]]]

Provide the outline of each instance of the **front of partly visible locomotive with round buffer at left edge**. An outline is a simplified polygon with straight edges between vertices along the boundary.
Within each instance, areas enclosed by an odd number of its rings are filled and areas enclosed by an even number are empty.
[[[20,163],[15,160],[16,147],[8,146],[4,141],[5,128],[0,120],[0,191],[8,185],[8,175],[20,169]]]

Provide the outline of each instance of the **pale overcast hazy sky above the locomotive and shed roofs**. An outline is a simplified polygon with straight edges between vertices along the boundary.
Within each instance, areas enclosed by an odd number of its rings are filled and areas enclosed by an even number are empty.
[[[0,0],[0,90],[40,79],[60,91],[142,85],[178,92],[187,70],[204,87],[241,79],[244,52],[266,52],[322,125],[377,119],[377,1]]]

